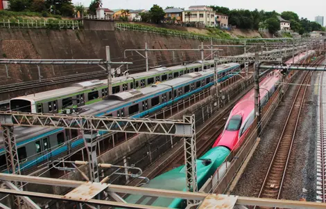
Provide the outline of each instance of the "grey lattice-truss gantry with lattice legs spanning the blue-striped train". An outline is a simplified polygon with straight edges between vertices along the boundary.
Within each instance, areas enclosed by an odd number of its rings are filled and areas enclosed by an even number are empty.
[[[84,131],[108,131],[133,134],[157,134],[167,136],[180,136],[185,143],[185,169],[187,179],[187,190],[196,192],[197,170],[196,170],[196,129],[194,115],[183,116],[183,120],[159,120],[147,118],[109,118],[105,116],[70,116],[60,114],[42,113],[19,113],[0,112],[1,128],[3,129],[3,140],[6,149],[8,171],[16,173],[19,171],[19,160],[14,126],[22,127],[54,127],[64,129],[80,129]],[[92,181],[98,181],[96,149],[96,138],[86,137],[83,134],[85,144],[89,147],[89,170]],[[194,202],[189,202],[194,203]]]

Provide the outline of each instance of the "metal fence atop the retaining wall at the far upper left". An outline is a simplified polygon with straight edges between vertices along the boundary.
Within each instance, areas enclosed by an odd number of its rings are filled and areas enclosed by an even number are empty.
[[[80,21],[60,20],[60,21],[45,21],[45,20],[0,20],[0,28],[49,28],[49,29],[72,29],[79,30],[83,26]]]

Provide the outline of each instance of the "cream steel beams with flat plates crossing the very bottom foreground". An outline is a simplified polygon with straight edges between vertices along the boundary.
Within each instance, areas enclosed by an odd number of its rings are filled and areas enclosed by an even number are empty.
[[[145,209],[163,209],[158,206],[145,206],[139,204],[132,204],[119,201],[105,201],[94,199],[100,192],[114,192],[126,194],[138,194],[146,197],[166,197],[187,199],[191,201],[198,201],[194,205],[187,206],[189,208],[245,208],[243,206],[263,206],[263,207],[277,207],[277,208],[311,208],[321,209],[325,208],[325,203],[307,202],[307,201],[291,201],[284,199],[263,199],[257,197],[239,197],[234,195],[224,194],[206,194],[201,192],[182,192],[174,190],[161,190],[153,188],[139,188],[126,185],[114,185],[110,183],[94,183],[85,181],[71,181],[65,179],[51,179],[38,176],[23,176],[15,174],[0,174],[1,181],[22,181],[24,183],[35,183],[37,185],[53,185],[64,188],[73,188],[67,194],[48,194],[42,192],[27,192],[22,190],[10,190],[0,188],[0,193],[14,194],[19,196],[40,197],[45,199],[53,199],[57,201],[74,201],[78,203],[87,203],[98,206],[113,206],[119,208],[145,208]],[[92,188],[92,190],[89,190]],[[89,192],[85,192],[89,190]],[[200,204],[201,202],[201,204]],[[0,205],[1,206],[1,205]]]

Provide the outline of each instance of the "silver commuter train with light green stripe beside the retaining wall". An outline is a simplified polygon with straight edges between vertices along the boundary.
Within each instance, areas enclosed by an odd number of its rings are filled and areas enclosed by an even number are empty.
[[[236,69],[238,64],[223,64],[218,66],[221,77]],[[214,61],[204,63],[204,70],[214,67]],[[202,71],[201,63],[161,67],[148,72],[135,73],[128,76],[112,78],[112,93],[142,89],[154,84],[178,78],[187,73]],[[65,113],[68,107],[80,107],[98,102],[108,96],[108,80],[91,80],[72,84],[70,87],[34,93],[27,96],[12,98],[10,110],[31,113]]]

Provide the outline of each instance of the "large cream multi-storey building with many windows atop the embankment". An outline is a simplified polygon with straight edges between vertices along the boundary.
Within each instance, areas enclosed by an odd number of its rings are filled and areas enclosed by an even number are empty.
[[[200,23],[207,27],[215,26],[215,12],[208,6],[190,6],[182,12],[182,19],[184,22]]]

